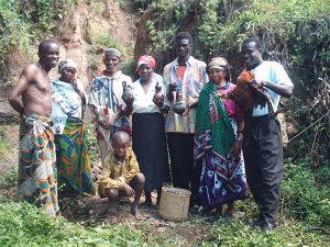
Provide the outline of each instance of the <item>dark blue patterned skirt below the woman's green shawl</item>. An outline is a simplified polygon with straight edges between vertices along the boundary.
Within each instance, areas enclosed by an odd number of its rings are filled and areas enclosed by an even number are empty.
[[[229,119],[234,133],[237,123]],[[211,148],[211,132],[207,131],[198,139],[198,149],[202,150],[202,171],[199,183],[199,198],[205,207],[218,209],[226,203],[248,198],[244,159],[235,159],[232,153],[221,156]],[[198,153],[197,149],[197,153]]]

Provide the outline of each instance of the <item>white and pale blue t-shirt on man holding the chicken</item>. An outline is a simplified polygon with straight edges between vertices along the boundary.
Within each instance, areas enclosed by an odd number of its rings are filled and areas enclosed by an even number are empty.
[[[252,72],[254,74],[255,80],[265,80],[275,85],[294,86],[283,66],[277,61],[263,61],[260,66],[252,69]],[[264,89],[272,99],[274,111],[277,111],[280,96],[267,89],[266,87]],[[262,105],[256,105],[253,108],[253,116],[266,114],[268,114],[267,104],[264,108],[262,108]]]

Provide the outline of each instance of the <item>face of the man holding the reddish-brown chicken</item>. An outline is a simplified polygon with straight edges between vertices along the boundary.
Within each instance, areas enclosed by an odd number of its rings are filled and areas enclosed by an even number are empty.
[[[244,43],[242,45],[242,50],[241,50],[243,57],[244,57],[244,63],[246,69],[254,69],[256,66],[262,64],[262,55],[260,50],[256,48],[255,42],[249,42]]]

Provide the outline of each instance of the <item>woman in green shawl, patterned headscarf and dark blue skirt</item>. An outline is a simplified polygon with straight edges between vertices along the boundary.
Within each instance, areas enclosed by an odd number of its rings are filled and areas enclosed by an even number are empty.
[[[244,117],[226,94],[235,88],[230,82],[229,65],[216,57],[207,65],[210,81],[198,99],[195,159],[202,162],[199,194],[204,212],[213,209],[233,215],[235,200],[246,198],[246,180],[242,156]]]

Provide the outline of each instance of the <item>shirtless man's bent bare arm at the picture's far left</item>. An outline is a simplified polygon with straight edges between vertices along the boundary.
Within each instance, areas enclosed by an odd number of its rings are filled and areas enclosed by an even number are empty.
[[[13,88],[13,90],[8,97],[10,105],[20,114],[24,113],[24,105],[21,100],[21,97],[28,89],[30,81],[33,79],[33,75],[35,75],[35,66],[28,65],[23,69],[16,86]]]

